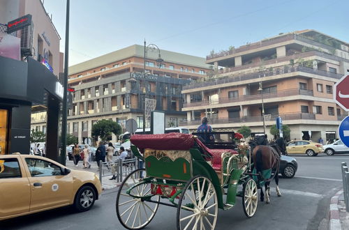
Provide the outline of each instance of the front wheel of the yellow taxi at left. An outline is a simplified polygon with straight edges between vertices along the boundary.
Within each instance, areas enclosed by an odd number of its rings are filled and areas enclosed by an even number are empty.
[[[84,185],[75,195],[74,208],[79,212],[85,212],[94,206],[96,192],[89,185]]]

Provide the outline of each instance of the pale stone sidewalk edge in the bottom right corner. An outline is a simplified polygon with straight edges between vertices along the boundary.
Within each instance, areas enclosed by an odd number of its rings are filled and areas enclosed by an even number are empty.
[[[331,204],[329,205],[329,229],[349,229],[349,213],[346,212],[343,190],[340,190],[331,198]]]

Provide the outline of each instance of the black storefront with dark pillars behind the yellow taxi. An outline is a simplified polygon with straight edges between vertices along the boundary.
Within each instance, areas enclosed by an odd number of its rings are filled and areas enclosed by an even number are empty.
[[[0,56],[0,154],[30,149],[31,110],[33,105],[47,111],[47,157],[58,159],[59,116],[63,87],[42,63]]]

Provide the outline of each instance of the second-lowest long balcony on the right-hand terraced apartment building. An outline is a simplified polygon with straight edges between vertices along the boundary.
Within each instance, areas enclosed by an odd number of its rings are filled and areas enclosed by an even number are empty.
[[[289,90],[285,90],[285,91],[263,93],[263,99],[283,98],[283,97],[289,97],[292,95],[313,96],[313,91],[305,90],[305,89],[289,89]],[[198,101],[198,102],[184,103],[183,107],[187,108],[187,107],[196,107],[196,106],[202,106],[202,105],[216,105],[216,104],[225,104],[225,103],[232,103],[232,102],[246,102],[249,100],[262,100],[262,94],[240,95],[239,98],[221,98],[221,97],[219,97],[218,100],[202,100],[202,101]]]

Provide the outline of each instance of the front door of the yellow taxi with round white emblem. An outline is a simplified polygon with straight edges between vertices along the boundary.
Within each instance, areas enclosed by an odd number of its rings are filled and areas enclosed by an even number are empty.
[[[61,167],[41,158],[25,158],[31,187],[30,210],[54,208],[70,204],[73,177],[64,175]]]

